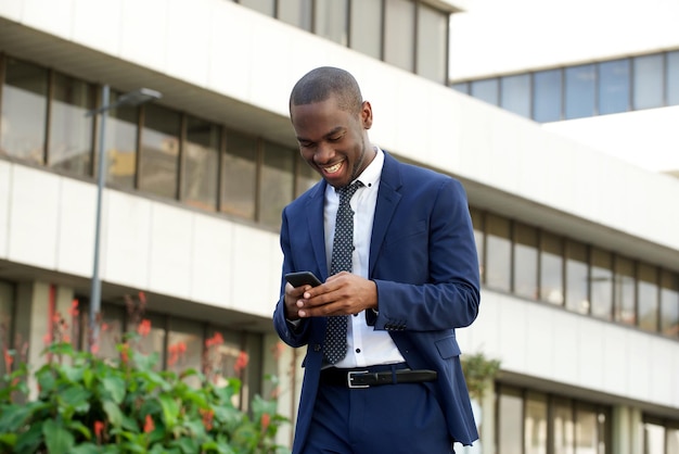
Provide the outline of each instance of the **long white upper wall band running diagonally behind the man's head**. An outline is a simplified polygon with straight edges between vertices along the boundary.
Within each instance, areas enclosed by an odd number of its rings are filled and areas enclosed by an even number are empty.
[[[371,137],[383,148],[679,251],[679,211],[663,202],[679,200],[679,180],[235,3],[27,0],[1,3],[0,15],[281,116],[302,74],[346,67],[373,104]]]

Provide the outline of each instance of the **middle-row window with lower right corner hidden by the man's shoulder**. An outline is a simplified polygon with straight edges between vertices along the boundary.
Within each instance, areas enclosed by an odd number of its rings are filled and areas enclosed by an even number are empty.
[[[262,224],[280,227],[281,213],[293,200],[293,171],[297,155],[289,148],[265,142],[259,197],[259,220]]]

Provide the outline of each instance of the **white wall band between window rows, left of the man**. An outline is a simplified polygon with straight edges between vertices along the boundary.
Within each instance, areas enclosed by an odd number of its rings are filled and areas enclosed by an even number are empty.
[[[7,161],[0,185],[0,258],[89,278],[95,185]],[[108,282],[267,318],[278,300],[270,231],[105,190],[100,248]]]

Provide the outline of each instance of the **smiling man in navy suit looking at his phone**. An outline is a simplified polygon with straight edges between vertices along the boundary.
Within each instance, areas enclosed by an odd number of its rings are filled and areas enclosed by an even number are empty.
[[[283,211],[283,274],[323,282],[283,280],[273,315],[284,342],[307,345],[293,453],[471,444],[478,436],[454,328],[476,318],[479,282],[462,186],[371,144],[372,108],[343,70],[299,79],[290,116],[322,180]]]

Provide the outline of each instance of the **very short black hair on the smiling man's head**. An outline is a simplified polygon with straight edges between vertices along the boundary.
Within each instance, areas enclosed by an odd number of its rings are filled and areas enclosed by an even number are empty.
[[[325,101],[332,96],[343,111],[360,112],[363,97],[358,83],[347,71],[332,66],[317,67],[305,74],[293,87],[289,108]]]

